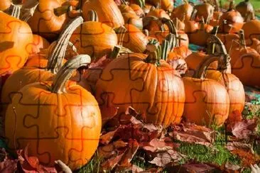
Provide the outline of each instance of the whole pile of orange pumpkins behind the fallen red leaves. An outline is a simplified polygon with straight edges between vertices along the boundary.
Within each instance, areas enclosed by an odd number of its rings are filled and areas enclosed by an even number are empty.
[[[86,164],[113,108],[220,126],[242,112],[243,84],[260,87],[260,21],[247,3],[1,1],[4,137],[48,166]]]

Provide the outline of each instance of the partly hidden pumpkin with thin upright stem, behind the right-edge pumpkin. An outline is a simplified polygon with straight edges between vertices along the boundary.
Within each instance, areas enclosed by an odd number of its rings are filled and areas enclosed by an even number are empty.
[[[237,62],[237,60],[239,60],[239,57],[247,54],[249,52],[254,52],[257,53],[256,50],[254,50],[254,48],[250,48],[247,47],[245,40],[244,40],[244,30],[240,30],[239,31],[239,35],[240,35],[240,44],[238,47],[232,47],[230,49],[229,55],[231,57],[231,65],[232,67],[234,66],[234,64]]]

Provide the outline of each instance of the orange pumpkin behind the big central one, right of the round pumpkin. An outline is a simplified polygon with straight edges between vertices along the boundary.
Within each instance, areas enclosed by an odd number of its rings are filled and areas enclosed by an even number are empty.
[[[123,45],[133,52],[143,52],[146,50],[148,38],[143,34],[139,28],[131,24],[124,25],[126,33],[124,34]]]

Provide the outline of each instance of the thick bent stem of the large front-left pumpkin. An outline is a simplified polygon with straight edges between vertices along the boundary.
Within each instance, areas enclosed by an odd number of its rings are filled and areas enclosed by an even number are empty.
[[[70,79],[73,72],[80,67],[86,67],[90,64],[90,62],[91,57],[89,55],[77,55],[71,60],[68,60],[55,75],[50,91],[57,94],[65,93],[66,83]]]

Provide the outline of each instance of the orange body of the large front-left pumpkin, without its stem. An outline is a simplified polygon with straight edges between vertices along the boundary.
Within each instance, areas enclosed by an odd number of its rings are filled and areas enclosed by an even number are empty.
[[[70,169],[79,169],[90,160],[99,143],[101,115],[97,101],[81,86],[74,84],[67,87],[67,93],[55,94],[48,91],[50,85],[27,85],[13,96],[6,111],[7,144],[12,150],[15,145],[29,145],[28,155],[48,166],[63,160]]]

